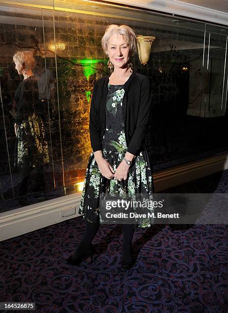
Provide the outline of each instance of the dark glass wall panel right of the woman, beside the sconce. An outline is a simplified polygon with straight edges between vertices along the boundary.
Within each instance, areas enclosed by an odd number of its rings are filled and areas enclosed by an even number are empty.
[[[166,24],[154,24],[146,30],[146,34],[156,37],[147,72],[143,71],[152,84],[149,146],[154,170],[184,164],[191,158],[197,159],[200,153],[198,117],[206,26],[189,20],[166,19]]]

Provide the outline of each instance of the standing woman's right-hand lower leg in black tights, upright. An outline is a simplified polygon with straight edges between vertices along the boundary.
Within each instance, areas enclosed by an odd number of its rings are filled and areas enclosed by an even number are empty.
[[[131,240],[134,234],[134,224],[123,224],[123,248],[122,248],[122,259],[123,263],[131,263]]]

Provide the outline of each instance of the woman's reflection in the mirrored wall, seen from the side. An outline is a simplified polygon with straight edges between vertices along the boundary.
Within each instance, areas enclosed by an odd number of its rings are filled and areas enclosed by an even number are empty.
[[[35,172],[34,190],[40,187],[44,190],[43,164],[49,163],[49,153],[43,122],[38,112],[38,84],[32,72],[36,61],[31,51],[16,52],[13,60],[18,74],[24,76],[15,92],[17,114],[14,124],[17,137],[15,165],[20,168],[21,174],[18,196],[24,196],[32,170]],[[20,202],[26,204],[23,199]]]

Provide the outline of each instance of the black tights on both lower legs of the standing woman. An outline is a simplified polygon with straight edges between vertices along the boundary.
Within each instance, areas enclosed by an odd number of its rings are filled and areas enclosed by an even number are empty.
[[[85,229],[80,243],[74,253],[73,258],[77,258],[82,255],[86,249],[89,248],[92,243],[100,223],[85,221]],[[122,249],[122,260],[128,262],[131,259],[131,240],[134,234],[133,224],[123,224],[123,249]]]

